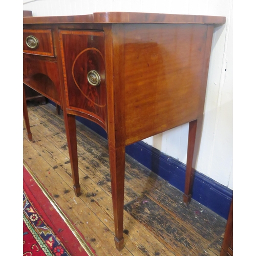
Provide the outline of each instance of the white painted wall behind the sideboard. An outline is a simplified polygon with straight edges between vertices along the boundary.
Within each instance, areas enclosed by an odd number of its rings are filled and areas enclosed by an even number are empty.
[[[29,0],[24,0],[29,1]],[[208,73],[202,138],[196,169],[233,189],[232,182],[232,0],[35,0],[23,5],[33,16],[131,11],[226,16],[216,27]],[[186,163],[188,124],[147,138],[169,156]]]

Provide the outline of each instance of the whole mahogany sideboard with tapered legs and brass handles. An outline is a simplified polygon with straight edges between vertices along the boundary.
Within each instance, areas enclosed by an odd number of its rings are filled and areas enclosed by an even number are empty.
[[[23,19],[23,82],[63,110],[76,196],[81,192],[75,116],[108,134],[118,250],[124,246],[126,145],[189,122],[183,200],[190,201],[212,34],[225,19],[129,12]],[[32,139],[26,102],[24,117]]]

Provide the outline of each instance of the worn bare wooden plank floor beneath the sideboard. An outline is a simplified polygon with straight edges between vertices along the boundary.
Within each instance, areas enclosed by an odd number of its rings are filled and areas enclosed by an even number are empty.
[[[33,140],[24,128],[24,161],[100,255],[219,255],[226,220],[126,156],[124,249],[114,245],[108,142],[77,122],[82,195],[73,193],[63,116],[51,104],[28,104]],[[25,125],[24,125],[25,127]]]

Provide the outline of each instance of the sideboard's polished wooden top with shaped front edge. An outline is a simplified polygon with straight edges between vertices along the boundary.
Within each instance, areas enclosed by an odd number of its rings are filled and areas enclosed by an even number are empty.
[[[169,23],[224,24],[226,17],[140,12],[95,12],[88,15],[24,17],[24,24],[52,23]]]

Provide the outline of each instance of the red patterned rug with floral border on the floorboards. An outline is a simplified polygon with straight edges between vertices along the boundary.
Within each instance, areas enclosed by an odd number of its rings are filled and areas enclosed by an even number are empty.
[[[96,255],[87,246],[89,254],[23,166],[23,255]]]

